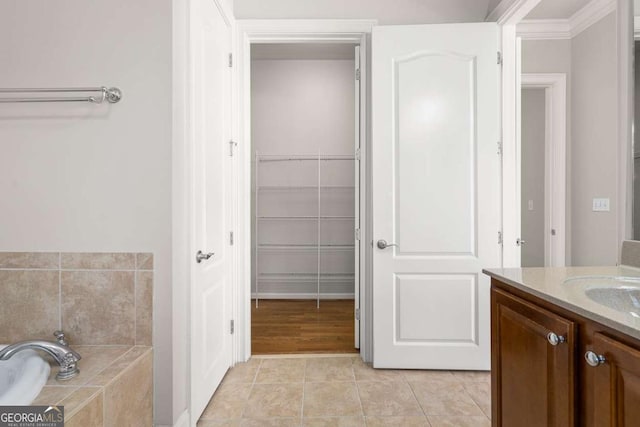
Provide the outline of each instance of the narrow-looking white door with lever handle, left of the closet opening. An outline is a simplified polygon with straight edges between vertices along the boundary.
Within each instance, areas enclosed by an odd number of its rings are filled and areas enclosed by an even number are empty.
[[[231,365],[231,26],[214,0],[191,4],[191,415]],[[196,253],[202,252],[198,262]]]

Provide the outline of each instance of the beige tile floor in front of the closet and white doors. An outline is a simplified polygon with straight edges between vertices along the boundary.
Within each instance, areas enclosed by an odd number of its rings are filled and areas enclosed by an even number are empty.
[[[357,356],[252,358],[231,369],[198,427],[490,426],[488,372],[373,369]]]

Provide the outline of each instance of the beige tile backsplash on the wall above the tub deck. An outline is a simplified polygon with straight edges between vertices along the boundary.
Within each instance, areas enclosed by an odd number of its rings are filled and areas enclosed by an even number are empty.
[[[0,301],[0,343],[151,346],[153,255],[0,252]]]

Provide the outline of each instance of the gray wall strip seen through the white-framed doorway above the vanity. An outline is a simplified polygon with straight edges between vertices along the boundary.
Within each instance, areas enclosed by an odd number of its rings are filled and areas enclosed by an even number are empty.
[[[544,267],[544,89],[522,90],[522,158],[522,266]]]

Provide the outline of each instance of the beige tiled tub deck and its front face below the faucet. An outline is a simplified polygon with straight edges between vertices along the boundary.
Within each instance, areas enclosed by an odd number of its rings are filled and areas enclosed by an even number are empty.
[[[34,405],[63,405],[65,427],[153,424],[153,351],[145,346],[75,346],[80,374],[57,381],[57,366]]]

